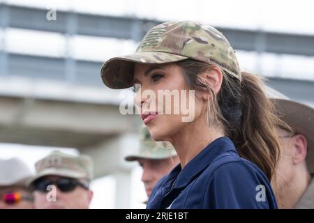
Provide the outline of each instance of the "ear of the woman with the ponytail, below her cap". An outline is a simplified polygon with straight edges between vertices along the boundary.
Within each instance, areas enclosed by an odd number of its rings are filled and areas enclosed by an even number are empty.
[[[203,81],[217,94],[223,83],[223,72],[216,66],[213,66],[201,74]],[[208,92],[202,94],[204,100],[208,100]]]

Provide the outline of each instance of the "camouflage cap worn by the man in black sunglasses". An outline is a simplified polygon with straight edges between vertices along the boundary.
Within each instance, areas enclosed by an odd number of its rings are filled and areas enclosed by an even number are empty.
[[[43,176],[64,176],[84,180],[93,178],[93,164],[88,155],[75,156],[53,151],[50,155],[38,160],[35,167],[36,174],[29,184]]]

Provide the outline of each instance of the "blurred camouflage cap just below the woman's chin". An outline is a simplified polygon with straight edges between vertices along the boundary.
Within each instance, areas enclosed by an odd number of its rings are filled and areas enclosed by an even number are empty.
[[[126,161],[134,161],[139,158],[144,159],[152,159],[152,160],[160,160],[169,158],[177,155],[173,146],[170,148],[164,148],[160,142],[156,142],[151,139],[151,134],[149,134],[149,130],[142,126],[140,129],[140,148],[136,153],[128,155],[125,157]]]

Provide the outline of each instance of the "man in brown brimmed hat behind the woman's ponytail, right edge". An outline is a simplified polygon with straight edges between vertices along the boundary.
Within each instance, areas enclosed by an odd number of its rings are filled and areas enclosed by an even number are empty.
[[[314,109],[267,88],[278,115],[291,130],[278,128],[281,157],[274,191],[279,208],[314,209]]]

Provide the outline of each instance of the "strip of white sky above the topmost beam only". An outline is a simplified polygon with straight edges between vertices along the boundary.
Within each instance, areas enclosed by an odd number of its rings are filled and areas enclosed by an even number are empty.
[[[214,26],[314,34],[311,0],[5,0],[5,2],[100,15],[135,15],[158,20],[197,20]]]

